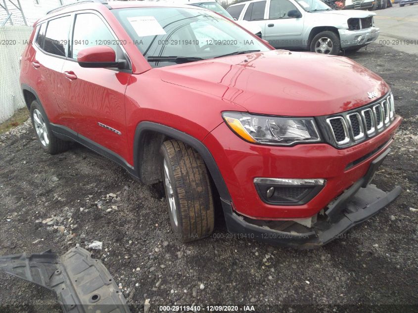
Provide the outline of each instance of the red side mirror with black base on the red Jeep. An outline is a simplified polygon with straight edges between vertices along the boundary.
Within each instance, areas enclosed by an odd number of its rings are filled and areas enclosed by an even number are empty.
[[[123,68],[125,66],[125,61],[116,61],[115,50],[107,45],[81,49],[77,54],[77,62],[81,67],[91,68]]]

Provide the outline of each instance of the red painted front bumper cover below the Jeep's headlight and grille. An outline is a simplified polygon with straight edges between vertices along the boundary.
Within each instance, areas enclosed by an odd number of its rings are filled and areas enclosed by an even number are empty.
[[[225,123],[213,130],[203,143],[225,180],[233,211],[253,220],[294,221],[316,215],[364,177],[372,161],[393,142],[400,123],[401,118],[396,117],[380,134],[344,149],[327,143],[293,147],[251,144],[239,139]],[[272,205],[261,200],[255,178],[326,179],[326,184],[306,204]]]

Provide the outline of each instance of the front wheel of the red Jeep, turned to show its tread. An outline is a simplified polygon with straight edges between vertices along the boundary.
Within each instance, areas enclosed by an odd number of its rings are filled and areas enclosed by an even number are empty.
[[[212,190],[205,163],[182,141],[167,140],[160,148],[171,227],[183,242],[209,236],[214,225]]]

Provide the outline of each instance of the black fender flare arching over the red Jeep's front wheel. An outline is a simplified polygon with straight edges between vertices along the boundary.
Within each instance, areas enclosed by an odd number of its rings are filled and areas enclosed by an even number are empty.
[[[218,165],[216,164],[215,159],[213,158],[209,149],[200,140],[169,126],[153,122],[140,122],[137,125],[134,138],[134,168],[138,174],[140,174],[141,165],[141,154],[139,153],[139,148],[143,146],[146,133],[145,131],[153,131],[156,133],[164,134],[173,139],[181,140],[194,148],[205,162],[206,167],[208,168],[209,173],[216,185],[216,188],[218,189],[220,197],[224,200],[231,201],[231,195],[228,191],[225,180],[222,177]]]

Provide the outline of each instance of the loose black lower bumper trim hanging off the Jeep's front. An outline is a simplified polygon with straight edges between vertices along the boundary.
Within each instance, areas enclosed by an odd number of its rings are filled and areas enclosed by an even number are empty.
[[[325,245],[378,213],[401,193],[400,186],[384,192],[369,184],[389,150],[371,163],[366,176],[332,201],[325,214],[311,227],[293,221],[251,220],[235,214],[231,202],[222,201],[228,231],[245,238],[292,248],[313,249]]]

